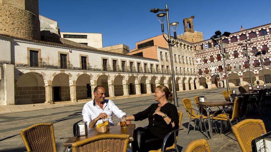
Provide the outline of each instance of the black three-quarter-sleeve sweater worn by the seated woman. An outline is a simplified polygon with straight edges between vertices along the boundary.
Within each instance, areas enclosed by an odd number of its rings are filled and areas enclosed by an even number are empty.
[[[160,115],[153,115],[154,111],[158,108],[158,103],[153,103],[150,107],[146,110],[141,111],[137,114],[134,114],[135,121],[144,120],[148,118],[149,124],[147,128],[157,137],[164,140],[166,135],[174,130],[179,128],[179,117],[178,111],[176,106],[171,103],[166,103],[163,107],[160,108],[160,111],[164,114],[167,114],[169,118],[174,122],[175,126],[172,127],[172,124],[167,124],[162,116]],[[154,121],[153,121],[154,118]],[[171,122],[172,122],[171,121]]]

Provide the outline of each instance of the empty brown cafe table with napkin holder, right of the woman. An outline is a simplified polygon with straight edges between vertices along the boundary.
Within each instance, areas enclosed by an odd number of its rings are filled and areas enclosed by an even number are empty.
[[[216,107],[216,106],[230,106],[233,105],[233,102],[229,101],[207,101],[207,103],[199,102],[197,105],[205,107],[207,111],[207,119],[208,119],[208,126],[209,126],[209,133],[210,138],[212,139],[212,126],[211,126],[211,118],[210,118],[210,107]]]

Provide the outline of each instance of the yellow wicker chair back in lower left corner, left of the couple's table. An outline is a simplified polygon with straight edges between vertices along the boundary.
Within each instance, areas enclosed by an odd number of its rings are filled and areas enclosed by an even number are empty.
[[[56,152],[52,123],[38,123],[20,132],[27,151]]]

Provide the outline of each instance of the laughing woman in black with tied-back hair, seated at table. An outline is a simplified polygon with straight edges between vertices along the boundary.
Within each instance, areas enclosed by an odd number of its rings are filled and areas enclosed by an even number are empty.
[[[179,128],[179,118],[176,106],[171,104],[172,92],[168,87],[160,85],[153,94],[155,101],[146,110],[127,117],[127,120],[144,120],[148,118],[146,128],[136,128],[133,141],[133,151],[149,151],[161,148],[163,140],[168,132]],[[172,146],[174,136],[168,139],[167,146]]]

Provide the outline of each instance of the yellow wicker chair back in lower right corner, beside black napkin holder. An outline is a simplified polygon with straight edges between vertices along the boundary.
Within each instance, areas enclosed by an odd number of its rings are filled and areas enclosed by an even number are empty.
[[[232,131],[243,152],[252,151],[251,141],[266,134],[265,124],[260,119],[242,120],[233,125]]]

